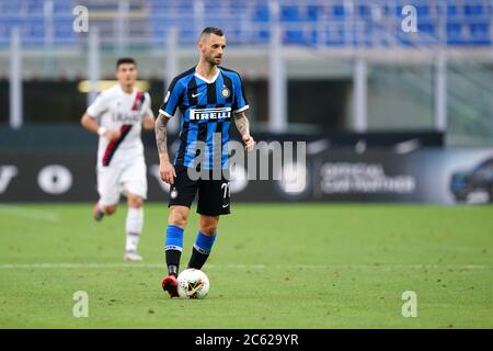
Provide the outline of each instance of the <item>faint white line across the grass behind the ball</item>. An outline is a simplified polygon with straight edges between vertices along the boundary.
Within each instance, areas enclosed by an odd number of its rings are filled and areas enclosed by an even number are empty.
[[[165,269],[164,263],[3,263],[0,269]],[[492,264],[207,264],[207,269],[493,269]]]

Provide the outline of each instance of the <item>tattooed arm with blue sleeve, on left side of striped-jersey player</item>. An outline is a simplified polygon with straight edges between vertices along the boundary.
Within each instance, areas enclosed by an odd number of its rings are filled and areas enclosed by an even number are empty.
[[[164,102],[159,109],[159,115],[158,118],[156,118],[154,124],[156,143],[159,152],[159,173],[162,181],[169,184],[174,183],[176,172],[173,163],[171,163],[170,155],[168,154],[167,124],[176,112],[181,99],[183,99],[183,87],[179,83],[177,78],[175,78],[168,89]]]

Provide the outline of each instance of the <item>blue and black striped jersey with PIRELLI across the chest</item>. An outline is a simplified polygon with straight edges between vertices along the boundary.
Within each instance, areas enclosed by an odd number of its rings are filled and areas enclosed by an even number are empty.
[[[197,141],[203,141],[207,145],[207,152],[199,156],[204,168],[211,169],[217,165],[214,161],[219,157],[217,152],[220,152],[221,167],[226,167],[231,118],[234,113],[249,107],[240,75],[218,67],[216,77],[207,80],[195,71],[195,67],[188,69],[173,79],[159,112],[172,117],[176,107],[182,116],[180,145],[173,163],[193,167],[194,159],[200,154]]]

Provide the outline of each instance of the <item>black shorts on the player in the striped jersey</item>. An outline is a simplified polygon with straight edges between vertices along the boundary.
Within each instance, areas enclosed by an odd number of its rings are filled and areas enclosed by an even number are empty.
[[[229,215],[230,193],[229,177],[221,172],[221,179],[214,180],[213,172],[208,171],[208,179],[202,177],[192,180],[188,177],[187,168],[175,166],[176,178],[170,188],[170,203],[168,206],[191,207],[198,191],[197,213],[206,216]]]

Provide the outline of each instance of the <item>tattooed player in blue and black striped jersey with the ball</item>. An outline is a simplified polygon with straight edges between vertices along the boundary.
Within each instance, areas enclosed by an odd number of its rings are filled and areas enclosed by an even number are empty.
[[[156,121],[156,139],[161,179],[171,185],[170,213],[165,238],[169,275],[162,287],[171,297],[177,296],[176,276],[183,249],[183,231],[191,204],[198,193],[199,231],[192,250],[188,268],[202,269],[213,244],[220,215],[230,213],[228,172],[229,129],[233,122],[245,144],[254,147],[245,111],[249,109],[240,75],[220,67],[226,38],[221,30],[206,27],[198,42],[198,64],[171,82]],[[181,111],[180,146],[171,161],[167,146],[167,123],[176,109]],[[199,148],[199,144],[205,145]],[[197,158],[203,170],[219,167],[220,177],[195,179],[190,174]],[[222,172],[223,171],[223,172]]]

